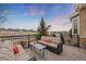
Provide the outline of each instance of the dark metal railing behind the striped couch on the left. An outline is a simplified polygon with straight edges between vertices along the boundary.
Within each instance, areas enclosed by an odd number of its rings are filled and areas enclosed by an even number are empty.
[[[35,36],[36,35],[0,36],[0,42],[3,43],[5,40],[11,40],[11,41],[14,41],[14,42],[26,41],[28,43],[28,48],[29,48],[29,42],[32,40],[36,39]]]

